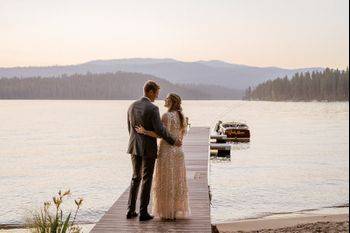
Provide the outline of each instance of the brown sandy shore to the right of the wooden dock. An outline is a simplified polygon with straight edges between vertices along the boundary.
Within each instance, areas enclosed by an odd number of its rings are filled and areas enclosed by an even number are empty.
[[[220,233],[349,232],[349,208],[278,214],[259,219],[218,223],[216,227]]]

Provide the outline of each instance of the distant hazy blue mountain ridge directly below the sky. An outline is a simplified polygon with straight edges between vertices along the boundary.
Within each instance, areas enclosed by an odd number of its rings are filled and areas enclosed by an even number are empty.
[[[246,89],[277,77],[297,72],[322,71],[323,68],[283,69],[231,64],[218,60],[183,62],[174,59],[131,58],[95,60],[78,65],[0,68],[0,77],[57,77],[63,74],[137,72],[150,74],[172,83],[219,85]]]

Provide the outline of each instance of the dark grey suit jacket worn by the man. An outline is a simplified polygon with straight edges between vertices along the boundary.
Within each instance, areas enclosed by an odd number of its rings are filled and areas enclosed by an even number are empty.
[[[159,108],[148,98],[132,103],[128,109],[128,130],[129,130],[129,154],[142,157],[157,157],[157,139],[154,137],[138,134],[135,126],[142,125],[146,130],[154,131],[169,144],[174,145],[175,139],[163,126],[160,120]]]

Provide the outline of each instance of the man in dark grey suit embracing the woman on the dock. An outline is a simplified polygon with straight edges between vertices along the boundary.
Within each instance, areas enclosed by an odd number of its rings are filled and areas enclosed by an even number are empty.
[[[136,199],[141,182],[140,221],[153,219],[147,211],[152,187],[154,163],[157,158],[157,139],[138,134],[135,126],[142,125],[146,130],[154,131],[159,137],[171,145],[181,146],[182,142],[174,139],[163,126],[159,109],[154,102],[158,98],[159,85],[154,81],[147,81],[143,87],[144,97],[132,103],[128,109],[129,146],[133,175],[131,179],[127,219],[137,217],[135,212]]]

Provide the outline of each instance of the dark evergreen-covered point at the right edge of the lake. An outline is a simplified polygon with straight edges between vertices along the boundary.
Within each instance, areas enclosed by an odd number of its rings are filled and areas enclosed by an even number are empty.
[[[245,99],[268,101],[349,101],[349,68],[345,71],[296,73],[248,88]]]

